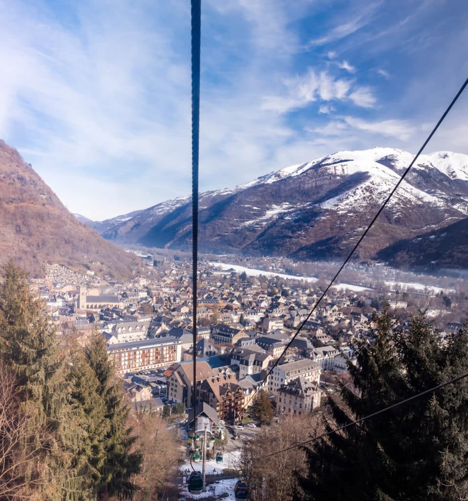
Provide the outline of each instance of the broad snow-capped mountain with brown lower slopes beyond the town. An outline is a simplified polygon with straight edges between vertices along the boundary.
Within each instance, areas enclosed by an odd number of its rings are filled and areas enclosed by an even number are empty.
[[[413,158],[340,151],[200,195],[202,252],[317,259],[346,255]],[[468,155],[421,155],[359,247],[360,259],[468,215]],[[121,243],[189,249],[190,196],[92,223]]]

